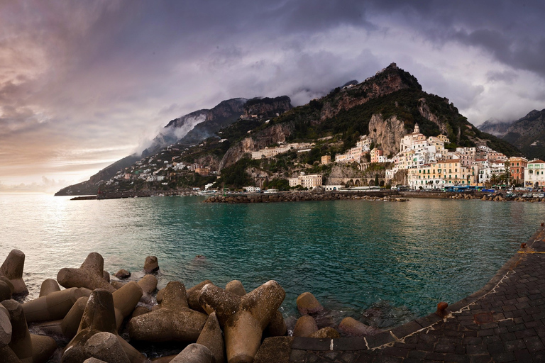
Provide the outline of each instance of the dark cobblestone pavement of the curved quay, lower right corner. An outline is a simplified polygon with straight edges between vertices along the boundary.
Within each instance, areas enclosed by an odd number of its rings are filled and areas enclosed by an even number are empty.
[[[375,337],[294,338],[290,362],[545,362],[545,230],[475,294]],[[331,349],[333,348],[333,349]]]

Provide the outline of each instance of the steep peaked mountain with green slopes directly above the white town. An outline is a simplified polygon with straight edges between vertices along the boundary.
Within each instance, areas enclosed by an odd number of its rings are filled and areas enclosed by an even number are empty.
[[[415,123],[426,136],[446,135],[448,148],[488,145],[508,156],[519,151],[504,140],[483,133],[458,113],[448,99],[422,91],[416,77],[392,63],[359,84],[338,87],[321,99],[293,108],[239,140],[227,150],[221,169],[230,167],[248,152],[282,142],[321,141],[315,155],[334,155],[356,145],[368,135],[385,155],[399,151],[400,140]],[[236,125],[233,124],[233,125]]]

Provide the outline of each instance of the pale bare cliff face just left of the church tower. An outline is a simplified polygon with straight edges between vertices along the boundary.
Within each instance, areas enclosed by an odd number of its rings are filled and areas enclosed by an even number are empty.
[[[407,135],[407,130],[397,116],[384,120],[382,115],[375,114],[369,121],[369,138],[386,156],[400,151],[400,141],[404,135]]]

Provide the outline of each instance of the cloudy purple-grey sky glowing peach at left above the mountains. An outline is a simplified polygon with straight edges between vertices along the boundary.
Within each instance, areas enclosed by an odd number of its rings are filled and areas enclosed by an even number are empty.
[[[55,192],[225,99],[395,62],[470,123],[545,108],[545,2],[0,0],[0,191]]]

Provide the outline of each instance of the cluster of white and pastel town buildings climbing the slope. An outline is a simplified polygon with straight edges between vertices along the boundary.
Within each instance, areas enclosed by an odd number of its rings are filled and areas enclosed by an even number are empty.
[[[390,163],[391,169],[385,171],[385,181],[389,183],[398,172],[407,173],[410,189],[444,189],[448,186],[486,186],[486,184],[518,184],[529,188],[545,185],[545,162],[529,161],[525,157],[507,158],[490,147],[457,147],[449,151],[445,144],[450,140],[445,135],[426,138],[420,133],[418,124],[414,131],[405,135],[400,142],[400,152],[388,159],[382,150],[370,149],[372,141],[363,135],[356,147],[335,157],[337,163],[369,161],[371,163]],[[331,157],[322,157],[322,163],[331,162]],[[506,169],[507,168],[507,169]],[[321,175],[300,175],[290,179],[290,186],[319,186]],[[312,180],[312,183],[310,182]],[[321,184],[320,184],[321,185]],[[340,189],[336,186],[334,189]]]

